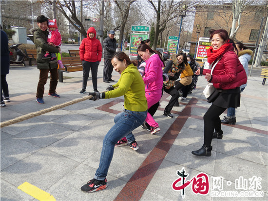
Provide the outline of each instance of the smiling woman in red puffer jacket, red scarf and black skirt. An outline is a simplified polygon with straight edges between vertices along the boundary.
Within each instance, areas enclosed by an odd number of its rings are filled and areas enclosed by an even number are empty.
[[[219,116],[226,108],[240,106],[240,86],[247,83],[246,71],[234,52],[236,46],[229,39],[228,32],[223,29],[211,29],[210,35],[208,62],[211,66],[217,61],[218,63],[213,68],[212,75],[211,69],[198,69],[196,75],[205,75],[205,79],[216,88],[216,95],[208,99],[212,104],[203,118],[204,144],[199,150],[191,152],[195,156],[211,156],[212,139],[222,139],[223,135]]]

